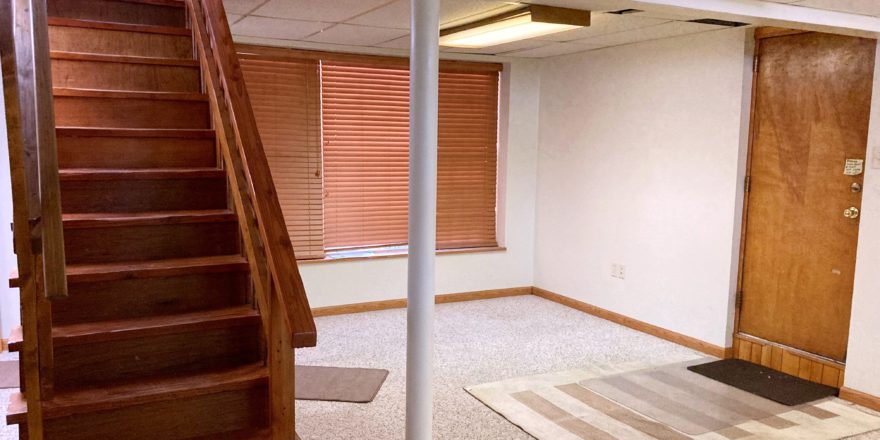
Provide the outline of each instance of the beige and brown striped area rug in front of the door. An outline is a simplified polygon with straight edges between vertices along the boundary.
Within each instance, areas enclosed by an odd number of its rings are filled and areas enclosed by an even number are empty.
[[[687,371],[632,363],[468,387],[539,440],[832,440],[880,430],[839,399],[787,407]]]

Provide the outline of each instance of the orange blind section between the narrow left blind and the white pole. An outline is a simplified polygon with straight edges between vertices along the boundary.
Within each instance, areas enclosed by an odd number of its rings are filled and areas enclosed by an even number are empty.
[[[406,243],[409,72],[324,62],[325,245]]]

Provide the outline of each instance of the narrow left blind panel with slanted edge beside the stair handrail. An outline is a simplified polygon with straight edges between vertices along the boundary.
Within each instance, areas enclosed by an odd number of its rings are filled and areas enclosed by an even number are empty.
[[[242,58],[241,68],[296,257],[323,258],[318,61]]]

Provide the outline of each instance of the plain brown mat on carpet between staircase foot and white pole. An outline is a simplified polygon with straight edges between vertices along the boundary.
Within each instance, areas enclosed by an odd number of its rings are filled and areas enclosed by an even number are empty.
[[[297,400],[368,403],[379,393],[388,370],[297,365],[295,374]]]

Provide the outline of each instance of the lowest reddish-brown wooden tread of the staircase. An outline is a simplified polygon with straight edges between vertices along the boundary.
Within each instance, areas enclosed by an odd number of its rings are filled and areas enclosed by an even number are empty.
[[[268,372],[260,362],[221,371],[59,391],[51,400],[43,403],[43,415],[45,418],[65,417],[156,401],[245,389],[264,385],[267,381]],[[26,422],[27,403],[21,393],[14,393],[10,396],[7,411],[6,422],[8,424]]]

